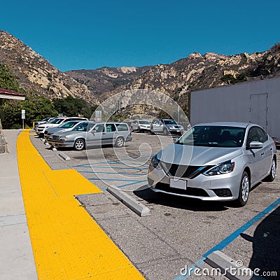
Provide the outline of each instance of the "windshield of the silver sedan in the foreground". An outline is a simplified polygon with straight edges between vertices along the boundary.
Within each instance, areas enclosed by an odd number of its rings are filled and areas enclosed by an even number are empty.
[[[244,141],[244,127],[220,125],[197,125],[181,137],[176,144],[206,147],[241,147]]]

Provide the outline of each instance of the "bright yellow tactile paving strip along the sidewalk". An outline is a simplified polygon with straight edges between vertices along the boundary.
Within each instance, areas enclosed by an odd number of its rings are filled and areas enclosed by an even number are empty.
[[[18,168],[38,279],[144,279],[73,195],[100,193],[73,169],[52,170],[18,137]]]

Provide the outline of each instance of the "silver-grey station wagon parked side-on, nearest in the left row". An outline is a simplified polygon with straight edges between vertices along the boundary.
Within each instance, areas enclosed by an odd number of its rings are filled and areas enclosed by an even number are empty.
[[[127,123],[84,122],[70,131],[52,134],[52,138],[47,141],[55,147],[81,151],[106,144],[120,148],[125,142],[132,141],[132,135]]]

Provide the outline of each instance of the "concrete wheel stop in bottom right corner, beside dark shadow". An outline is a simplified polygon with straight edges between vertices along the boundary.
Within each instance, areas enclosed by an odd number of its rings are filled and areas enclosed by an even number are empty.
[[[221,251],[214,251],[207,256],[205,262],[211,267],[221,269],[221,273],[225,273],[225,276],[231,280],[260,280],[263,279],[260,276],[254,276],[253,271],[243,266],[241,260],[233,260],[228,255],[225,255]],[[232,272],[232,273],[230,273]]]

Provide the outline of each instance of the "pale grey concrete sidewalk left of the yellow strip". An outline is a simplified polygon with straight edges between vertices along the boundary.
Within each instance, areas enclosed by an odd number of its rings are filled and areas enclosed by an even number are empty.
[[[9,153],[0,154],[0,278],[38,279],[18,174],[20,130],[3,132]]]

